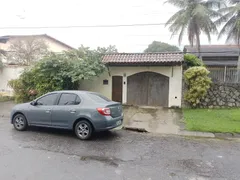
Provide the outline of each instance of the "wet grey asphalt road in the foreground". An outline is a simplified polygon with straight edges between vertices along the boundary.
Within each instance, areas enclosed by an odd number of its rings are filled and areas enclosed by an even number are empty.
[[[1,180],[240,179],[240,142],[124,130],[80,141],[72,132],[18,132],[0,118]]]

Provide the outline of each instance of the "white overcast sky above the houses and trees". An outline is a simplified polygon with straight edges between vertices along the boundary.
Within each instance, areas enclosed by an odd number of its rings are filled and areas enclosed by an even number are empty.
[[[66,29],[1,29],[21,26],[84,26],[165,23],[176,12],[165,0],[7,0],[1,2],[0,35],[48,34],[75,48],[81,44],[116,45],[119,52],[142,52],[152,41],[178,45],[178,38],[162,26]],[[202,44],[208,44],[205,36]],[[225,40],[212,37],[211,44]],[[182,46],[188,44],[187,36]],[[182,47],[181,46],[181,47]]]

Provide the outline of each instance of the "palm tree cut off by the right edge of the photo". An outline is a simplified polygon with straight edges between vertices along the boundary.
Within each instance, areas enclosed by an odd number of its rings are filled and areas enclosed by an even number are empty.
[[[218,38],[227,35],[226,42],[233,41],[240,44],[240,0],[228,0],[229,6],[223,7],[219,10],[223,16],[220,17],[215,23],[222,25]]]

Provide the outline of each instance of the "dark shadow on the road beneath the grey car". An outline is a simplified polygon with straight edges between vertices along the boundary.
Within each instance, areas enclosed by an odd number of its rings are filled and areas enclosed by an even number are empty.
[[[65,130],[65,129],[55,129],[55,128],[45,128],[45,127],[28,127],[26,132],[36,132],[36,133],[42,133],[49,134],[49,135],[56,135],[61,138],[64,137],[70,137],[75,138],[74,132],[71,130]],[[114,140],[115,138],[118,138],[120,136],[117,131],[104,131],[104,132],[96,132],[93,134],[92,138],[89,141],[109,141]]]

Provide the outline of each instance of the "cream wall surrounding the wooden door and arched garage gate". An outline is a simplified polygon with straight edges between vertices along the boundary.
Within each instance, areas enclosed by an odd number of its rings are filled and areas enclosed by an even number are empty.
[[[84,80],[80,84],[81,90],[99,92],[112,98],[112,76],[123,76],[123,103],[127,102],[127,77],[139,72],[151,71],[169,77],[169,107],[181,107],[182,98],[182,66],[136,66],[136,67],[110,67],[109,73],[105,72],[93,80]],[[126,76],[124,76],[124,74]],[[103,85],[103,80],[108,80],[108,85]],[[124,84],[125,82],[125,84]]]

